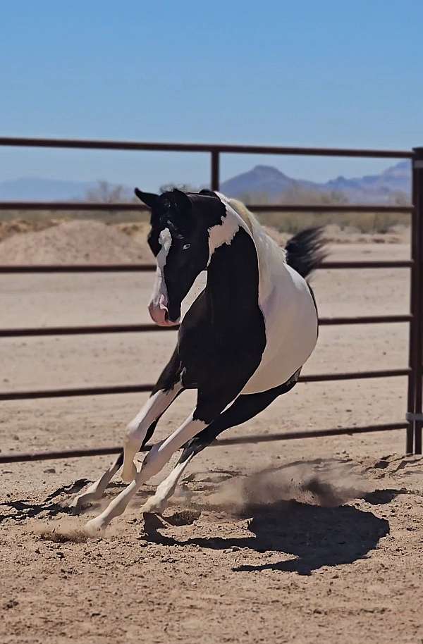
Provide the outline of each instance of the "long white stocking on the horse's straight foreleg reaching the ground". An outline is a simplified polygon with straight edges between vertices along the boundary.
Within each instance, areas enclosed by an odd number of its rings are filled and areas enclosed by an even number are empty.
[[[152,476],[159,473],[164,464],[166,464],[171,458],[172,454],[185,445],[185,442],[188,442],[190,438],[193,438],[195,435],[200,433],[204,427],[207,427],[207,423],[204,423],[204,421],[193,420],[192,414],[190,414],[190,416],[185,419],[182,425],[174,431],[173,434],[168,436],[166,440],[154,445],[151,452],[147,454],[140,471],[137,472],[132,483],[130,483],[130,485],[128,485],[128,487],[125,488],[125,490],[123,490],[116,499],[109,503],[102,514],[99,514],[95,519],[88,521],[86,525],[87,530],[90,532],[104,530],[115,516],[118,516],[125,511],[126,506],[137,493],[137,490],[141,487],[142,483],[145,483],[149,478],[152,478]]]

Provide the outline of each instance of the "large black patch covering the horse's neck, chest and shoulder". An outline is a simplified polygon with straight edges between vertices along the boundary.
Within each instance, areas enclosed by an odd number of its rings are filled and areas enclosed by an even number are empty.
[[[179,330],[182,383],[199,390],[195,418],[211,422],[216,416],[214,399],[218,407],[227,400],[226,407],[257,370],[266,346],[258,298],[255,244],[240,228],[231,244],[215,249],[207,286]]]

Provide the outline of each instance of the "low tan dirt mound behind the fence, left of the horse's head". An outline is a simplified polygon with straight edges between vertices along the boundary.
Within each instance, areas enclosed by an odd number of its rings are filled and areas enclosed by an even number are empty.
[[[0,264],[126,264],[150,262],[146,242],[99,221],[66,221],[0,243]]]

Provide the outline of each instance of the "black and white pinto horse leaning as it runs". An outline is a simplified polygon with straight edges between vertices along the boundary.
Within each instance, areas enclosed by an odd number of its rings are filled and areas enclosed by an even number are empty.
[[[78,509],[98,500],[122,467],[123,481],[130,484],[87,523],[90,531],[102,530],[121,514],[142,483],[183,447],[178,464],[143,508],[163,511],[192,457],[292,389],[317,342],[317,309],[305,278],[324,256],[319,228],[296,235],[283,250],[243,204],[219,192],[135,194],[152,211],[153,320],[178,324],[181,302],[204,270],[207,285],[185,314],[176,349],[151,397],[128,425],[122,454],[73,500]],[[197,390],[195,409],[153,445],[137,471],[135,454],[184,389]]]

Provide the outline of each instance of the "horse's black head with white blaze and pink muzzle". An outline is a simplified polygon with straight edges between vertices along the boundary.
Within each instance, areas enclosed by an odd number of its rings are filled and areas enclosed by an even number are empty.
[[[161,195],[135,194],[151,211],[149,247],[157,273],[149,314],[160,326],[178,324],[180,305],[209,263],[209,229],[221,223],[225,208],[213,192],[186,194],[180,190]]]

